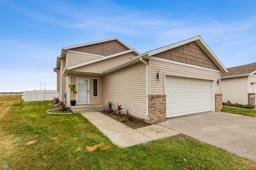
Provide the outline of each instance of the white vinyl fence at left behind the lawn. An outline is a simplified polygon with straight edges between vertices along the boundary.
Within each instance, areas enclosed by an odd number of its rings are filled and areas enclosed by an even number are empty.
[[[54,97],[59,97],[59,93],[56,90],[33,90],[22,93],[24,101],[46,101],[52,100]]]

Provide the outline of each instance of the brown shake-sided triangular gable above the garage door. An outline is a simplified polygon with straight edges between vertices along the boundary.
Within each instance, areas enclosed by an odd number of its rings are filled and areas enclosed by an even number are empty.
[[[197,65],[200,67],[219,70],[218,67],[195,42],[181,45],[179,47],[164,51],[162,53],[158,53],[154,56],[182,63]]]

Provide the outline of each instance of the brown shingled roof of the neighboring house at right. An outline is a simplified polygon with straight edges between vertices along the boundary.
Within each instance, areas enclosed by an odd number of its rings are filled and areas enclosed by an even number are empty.
[[[253,75],[256,73],[256,62],[240,65],[237,67],[230,67],[227,68],[228,73],[222,73],[221,78],[230,78],[230,77],[241,77],[241,76],[248,76]]]

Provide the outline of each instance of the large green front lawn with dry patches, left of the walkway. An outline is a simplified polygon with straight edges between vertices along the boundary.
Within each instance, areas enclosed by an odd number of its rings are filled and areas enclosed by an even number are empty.
[[[79,113],[48,101],[0,103],[0,165],[11,169],[256,169],[248,159],[185,135],[118,148]],[[129,137],[129,136],[127,136]]]

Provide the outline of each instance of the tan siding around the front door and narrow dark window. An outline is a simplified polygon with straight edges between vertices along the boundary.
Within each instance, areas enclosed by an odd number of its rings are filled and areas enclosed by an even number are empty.
[[[71,77],[71,83],[76,83],[76,77],[82,77],[82,78],[88,78],[90,79],[90,105],[93,104],[102,104],[102,76],[86,76],[86,75],[74,75],[72,74]],[[93,91],[93,85],[92,85],[92,79],[98,79],[98,97],[92,96]],[[79,93],[79,92],[77,92]],[[73,94],[70,94],[73,95]],[[76,96],[76,95],[75,95]]]

